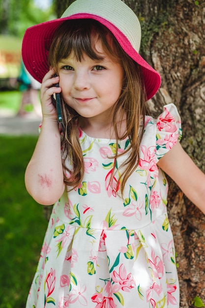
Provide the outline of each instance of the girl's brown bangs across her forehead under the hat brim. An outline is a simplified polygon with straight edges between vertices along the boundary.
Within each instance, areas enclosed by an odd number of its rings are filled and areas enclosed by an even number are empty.
[[[102,60],[103,57],[95,48],[98,40],[102,42],[105,53],[119,61],[114,43],[116,39],[106,27],[91,19],[65,21],[54,34],[49,51],[49,64],[56,67],[60,60],[66,59],[71,53],[79,62],[82,62],[85,56],[92,60]]]

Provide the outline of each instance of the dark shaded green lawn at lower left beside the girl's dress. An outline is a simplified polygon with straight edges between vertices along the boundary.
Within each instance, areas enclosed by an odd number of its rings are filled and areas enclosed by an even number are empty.
[[[24,184],[36,140],[0,136],[0,308],[25,308],[47,227]]]

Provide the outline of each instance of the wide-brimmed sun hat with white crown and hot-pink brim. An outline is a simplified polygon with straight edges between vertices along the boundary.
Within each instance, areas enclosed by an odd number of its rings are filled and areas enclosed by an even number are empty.
[[[160,74],[140,55],[141,27],[135,13],[121,0],[76,0],[61,18],[35,25],[25,32],[22,58],[29,73],[39,82],[49,70],[48,53],[55,30],[65,20],[94,19],[107,27],[123,50],[142,67],[147,99],[161,84]]]

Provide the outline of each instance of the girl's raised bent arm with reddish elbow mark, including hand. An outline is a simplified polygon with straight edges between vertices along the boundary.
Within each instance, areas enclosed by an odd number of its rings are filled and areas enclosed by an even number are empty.
[[[52,78],[53,70],[44,77],[41,87],[42,128],[25,173],[25,184],[33,199],[43,205],[54,204],[63,194],[63,169],[60,151],[60,133],[56,108],[51,101],[59,77]]]

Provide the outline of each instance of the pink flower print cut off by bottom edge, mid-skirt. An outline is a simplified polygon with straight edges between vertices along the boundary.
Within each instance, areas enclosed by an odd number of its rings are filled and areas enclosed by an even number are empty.
[[[107,296],[103,296],[103,294]],[[112,286],[110,281],[103,287],[102,292],[96,292],[91,297],[91,300],[93,303],[97,303],[95,308],[117,308],[112,298]]]

